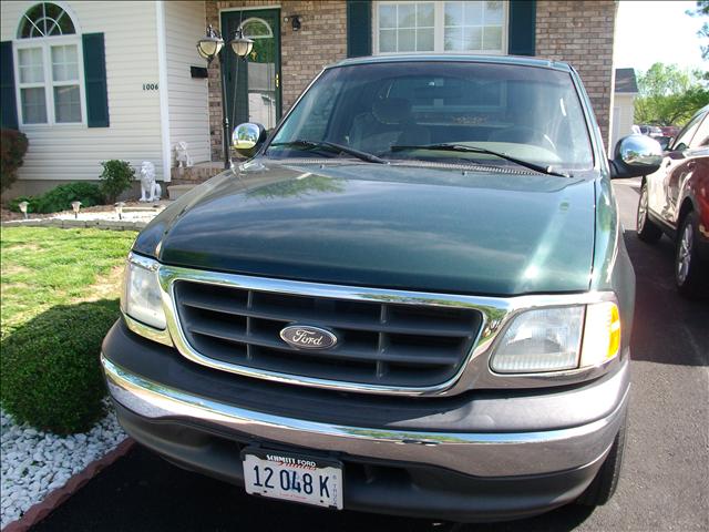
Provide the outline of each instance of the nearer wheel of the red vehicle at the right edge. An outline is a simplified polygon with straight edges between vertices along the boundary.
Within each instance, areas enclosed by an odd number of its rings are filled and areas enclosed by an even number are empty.
[[[697,242],[697,213],[689,213],[682,219],[677,233],[675,253],[675,282],[682,296],[701,295],[706,283],[706,264],[699,258]]]

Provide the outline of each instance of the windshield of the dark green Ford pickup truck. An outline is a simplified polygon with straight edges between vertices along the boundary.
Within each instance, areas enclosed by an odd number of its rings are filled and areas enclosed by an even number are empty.
[[[332,150],[304,150],[301,141],[389,160],[512,164],[492,154],[415,150],[459,144],[554,167],[593,166],[571,74],[511,64],[420,61],[329,69],[288,115],[266,154],[338,156]]]

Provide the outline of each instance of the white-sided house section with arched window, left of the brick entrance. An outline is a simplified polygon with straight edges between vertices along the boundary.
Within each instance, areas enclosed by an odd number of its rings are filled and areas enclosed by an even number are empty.
[[[0,3],[3,127],[29,150],[8,194],[97,180],[101,161],[155,164],[169,180],[174,145],[209,160],[207,85],[195,40],[204,2]]]

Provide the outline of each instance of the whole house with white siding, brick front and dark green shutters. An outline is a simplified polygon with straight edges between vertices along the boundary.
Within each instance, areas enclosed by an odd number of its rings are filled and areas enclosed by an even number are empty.
[[[195,163],[223,154],[222,65],[206,68],[196,51],[208,24],[255,41],[248,61],[223,54],[232,127],[273,127],[323,65],[347,57],[480,53],[571,62],[608,139],[613,0],[4,0],[0,16],[0,117],[30,141],[8,197],[95,180],[109,158],[152,161],[173,183],[218,172],[173,168],[181,141]]]

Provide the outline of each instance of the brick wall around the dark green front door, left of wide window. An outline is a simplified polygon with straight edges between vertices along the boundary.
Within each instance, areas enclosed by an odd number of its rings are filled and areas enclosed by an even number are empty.
[[[273,0],[207,0],[206,23],[219,28],[219,10],[273,6]],[[299,14],[301,28],[292,31],[284,17]],[[325,66],[347,57],[347,4],[340,0],[284,0],[280,2],[281,94],[284,113]],[[209,130],[212,160],[222,158],[222,81],[219,60],[209,66]]]

